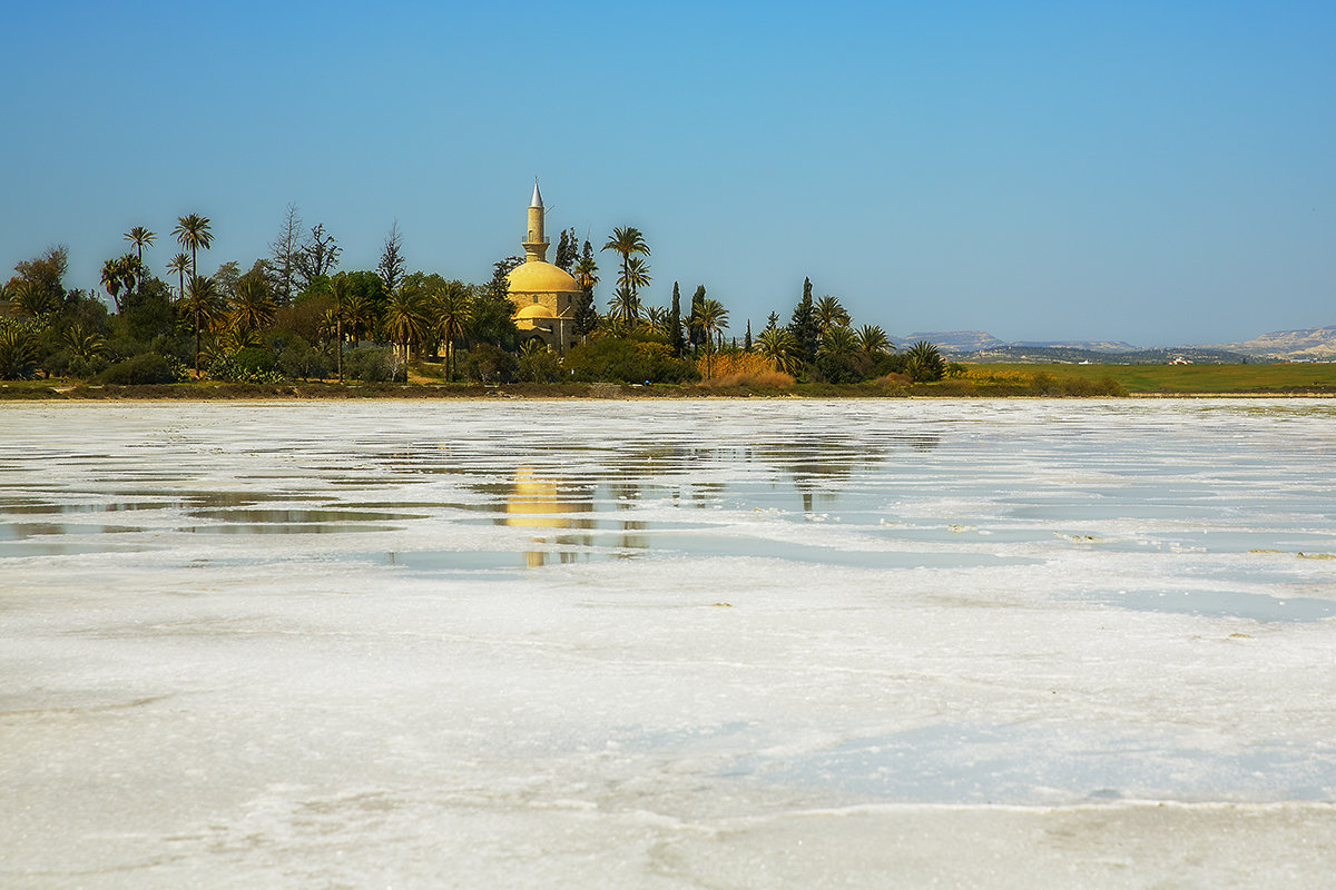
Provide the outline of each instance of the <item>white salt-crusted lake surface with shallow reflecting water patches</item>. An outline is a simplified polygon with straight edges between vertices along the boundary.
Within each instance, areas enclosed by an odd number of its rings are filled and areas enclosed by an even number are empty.
[[[1336,406],[0,406],[0,886],[1323,886]]]

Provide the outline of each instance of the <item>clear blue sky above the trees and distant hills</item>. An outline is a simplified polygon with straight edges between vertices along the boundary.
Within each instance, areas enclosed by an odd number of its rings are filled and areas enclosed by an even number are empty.
[[[735,331],[810,275],[894,335],[1212,343],[1336,324],[1336,4],[11,3],[0,271],[132,226],[166,278],[267,254],[484,280],[549,230],[636,226],[648,302]],[[611,294],[612,254],[600,304]]]

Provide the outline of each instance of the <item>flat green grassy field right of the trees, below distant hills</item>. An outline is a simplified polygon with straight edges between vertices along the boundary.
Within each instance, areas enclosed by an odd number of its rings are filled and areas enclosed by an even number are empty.
[[[975,375],[1049,374],[1058,380],[1112,378],[1128,395],[1248,392],[1336,394],[1336,363],[1321,364],[971,364]]]

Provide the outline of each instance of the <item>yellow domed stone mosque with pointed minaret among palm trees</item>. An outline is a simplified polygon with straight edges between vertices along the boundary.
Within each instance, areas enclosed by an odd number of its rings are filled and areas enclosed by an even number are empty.
[[[580,342],[576,334],[576,302],[580,284],[548,262],[542,223],[542,195],[537,180],[529,201],[529,231],[522,242],[524,262],[508,276],[508,295],[514,303],[514,324],[522,339],[538,339],[556,352]]]

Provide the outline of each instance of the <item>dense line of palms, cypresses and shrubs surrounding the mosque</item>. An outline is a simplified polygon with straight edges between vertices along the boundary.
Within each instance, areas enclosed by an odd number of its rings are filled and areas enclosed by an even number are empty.
[[[771,312],[754,338],[747,320],[741,343],[727,336],[729,311],[704,286],[685,311],[677,282],[667,306],[648,306],[651,250],[635,227],[615,228],[599,251],[574,230],[560,234],[554,264],[580,288],[580,346],[557,355],[512,319],[506,276],[521,258],[497,260],[492,278],[477,283],[407,272],[395,223],[374,270],[341,270],[334,235],[319,223],[307,227],[290,205],[269,255],[244,271],[226,262],[200,275],[212,226],[188,213],[164,236],[144,226],[126,231],[127,251],[102,266],[110,306],[94,291],[65,287],[65,246],[17,263],[0,284],[0,378],[680,383],[744,368],[790,382],[856,383],[887,374],[931,380],[946,371],[931,344],[898,352],[880,327],[855,327],[839,298],[812,296],[811,280],[787,324]],[[159,242],[176,248],[164,275],[146,262]],[[599,256],[608,252],[615,287],[600,312]]]

